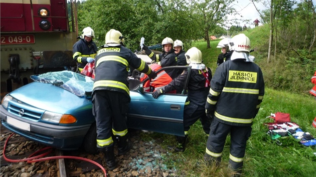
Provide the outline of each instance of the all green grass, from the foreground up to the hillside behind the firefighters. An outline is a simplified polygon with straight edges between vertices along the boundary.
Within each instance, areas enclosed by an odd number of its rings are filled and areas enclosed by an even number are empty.
[[[266,63],[267,50],[261,48],[260,45],[267,46],[267,32],[268,30],[265,26],[244,31],[244,33],[249,36],[252,46],[258,46],[254,47],[255,51],[251,54],[256,56],[255,62],[261,67],[265,76],[264,79],[267,80],[268,83],[273,83],[273,80],[269,78],[273,74],[273,70],[270,69],[271,65],[279,67],[279,69],[276,70],[278,72],[284,72],[285,70],[282,70],[282,67],[277,65],[278,62],[281,61],[276,59],[272,58],[272,63]],[[217,67],[217,56],[221,52],[220,48],[216,48],[219,41],[220,39],[212,40],[210,43],[211,48],[206,48],[205,41],[197,41],[194,43],[194,46],[202,51],[203,63],[211,68],[213,74]],[[273,69],[275,69],[275,67]],[[290,74],[291,72],[287,71],[287,73]],[[310,74],[312,75],[313,73]],[[292,80],[287,80],[290,81],[289,84],[300,85],[308,81],[294,77],[293,74],[290,75],[293,76],[293,78]],[[279,145],[266,133],[268,128],[264,123],[273,122],[273,119],[267,116],[280,111],[290,113],[291,121],[300,125],[303,131],[316,136],[316,128],[311,124],[316,116],[316,101],[306,90],[309,85],[307,85],[304,90],[298,89],[296,92],[292,91],[292,89],[288,89],[289,91],[272,89],[278,86],[279,88],[283,88],[281,77],[281,75],[276,76],[279,80],[274,80],[275,84],[280,85],[270,86],[271,84],[266,84],[264,99],[254,119],[251,137],[247,141],[243,176],[315,176],[316,155],[313,154],[316,152],[315,146],[301,145],[297,139],[290,136],[278,138],[281,142],[281,145]],[[312,84],[310,84],[310,88],[311,87]],[[176,143],[175,138],[168,134],[151,133],[143,134],[142,136],[143,138],[164,139],[161,145],[166,149],[168,145]],[[220,166],[196,165],[197,162],[203,161],[206,141],[207,135],[203,131],[201,122],[197,121],[189,130],[188,144],[185,152],[166,154],[165,164],[169,168],[175,167],[179,171],[185,171],[185,176],[231,176],[232,173],[227,167],[230,136],[226,139]]]

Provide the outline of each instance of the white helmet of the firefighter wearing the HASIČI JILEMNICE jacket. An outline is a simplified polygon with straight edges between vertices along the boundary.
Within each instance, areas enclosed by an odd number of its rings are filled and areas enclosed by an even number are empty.
[[[243,34],[237,34],[230,40],[231,48],[230,50],[234,51],[244,51],[248,52],[250,51],[250,40],[249,38]]]

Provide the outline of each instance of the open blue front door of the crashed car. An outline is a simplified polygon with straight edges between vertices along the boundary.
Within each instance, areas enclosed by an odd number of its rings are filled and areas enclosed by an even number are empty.
[[[157,70],[191,69],[191,66],[168,66]],[[184,90],[187,89],[188,72]],[[143,82],[145,82],[144,80]],[[142,83],[143,83],[142,82]],[[184,136],[183,113],[187,101],[186,91],[181,94],[165,93],[153,98],[152,92],[144,92],[142,83],[130,90],[131,101],[127,113],[129,128]]]

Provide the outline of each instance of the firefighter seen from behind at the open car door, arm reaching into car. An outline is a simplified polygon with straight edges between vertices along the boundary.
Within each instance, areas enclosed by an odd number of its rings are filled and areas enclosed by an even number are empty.
[[[188,100],[185,104],[183,115],[185,136],[176,136],[178,145],[173,147],[175,152],[185,150],[190,126],[199,118],[202,122],[205,133],[209,134],[211,125],[211,120],[205,113],[206,97],[210,89],[210,81],[212,79],[211,69],[206,67],[205,64],[202,64],[202,52],[197,47],[192,47],[186,52],[186,59],[192,69],[188,82]],[[153,91],[152,97],[157,98],[163,93],[183,88],[187,75],[188,70],[185,70],[164,88]]]

